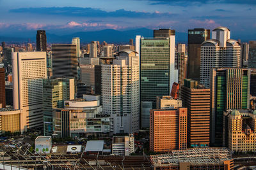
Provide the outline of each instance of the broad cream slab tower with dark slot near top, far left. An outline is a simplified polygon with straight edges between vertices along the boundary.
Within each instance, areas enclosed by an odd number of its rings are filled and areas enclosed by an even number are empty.
[[[43,126],[43,79],[47,78],[45,52],[13,52],[13,108],[22,110],[20,131]]]

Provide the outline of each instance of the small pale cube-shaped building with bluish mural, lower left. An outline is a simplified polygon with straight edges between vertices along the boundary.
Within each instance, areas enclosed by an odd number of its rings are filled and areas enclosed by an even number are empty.
[[[50,153],[52,149],[51,136],[38,136],[35,139],[35,150],[39,154]]]

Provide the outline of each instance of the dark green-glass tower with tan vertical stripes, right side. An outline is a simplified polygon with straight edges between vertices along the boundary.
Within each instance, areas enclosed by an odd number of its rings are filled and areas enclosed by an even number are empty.
[[[250,69],[213,68],[211,71],[211,143],[223,143],[223,111],[250,108]]]

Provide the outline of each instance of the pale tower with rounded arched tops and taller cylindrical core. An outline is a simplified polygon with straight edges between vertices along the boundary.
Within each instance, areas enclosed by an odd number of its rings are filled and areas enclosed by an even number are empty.
[[[212,39],[201,45],[200,82],[210,87],[211,68],[240,67],[241,46],[230,39],[227,27],[218,27],[212,31]]]

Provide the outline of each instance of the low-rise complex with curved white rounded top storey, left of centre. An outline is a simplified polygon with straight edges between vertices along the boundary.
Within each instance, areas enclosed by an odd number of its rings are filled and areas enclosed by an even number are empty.
[[[98,96],[65,101],[65,108],[54,109],[53,132],[59,138],[106,134],[111,118],[102,113]]]

